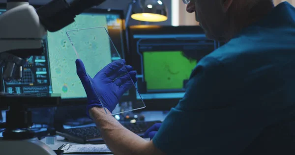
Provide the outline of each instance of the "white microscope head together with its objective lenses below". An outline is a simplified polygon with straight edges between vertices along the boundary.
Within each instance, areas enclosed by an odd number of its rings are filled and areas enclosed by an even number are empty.
[[[7,3],[0,16],[0,69],[3,79],[21,79],[26,58],[44,51],[47,30],[29,2]]]

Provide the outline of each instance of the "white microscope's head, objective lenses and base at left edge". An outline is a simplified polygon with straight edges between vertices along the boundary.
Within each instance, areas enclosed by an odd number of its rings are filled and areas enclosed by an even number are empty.
[[[7,11],[0,15],[0,69],[5,65],[2,76],[5,80],[22,78],[26,57],[43,52],[46,34],[36,9],[29,2],[7,3]],[[56,155],[34,137],[0,138],[0,150],[3,155]]]

